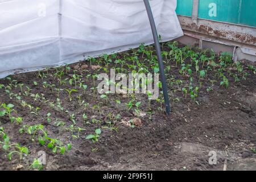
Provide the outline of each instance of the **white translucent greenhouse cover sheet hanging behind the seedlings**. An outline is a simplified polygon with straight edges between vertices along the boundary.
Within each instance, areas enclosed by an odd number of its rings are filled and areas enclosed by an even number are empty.
[[[162,41],[183,35],[176,0],[151,0]],[[0,0],[0,77],[153,43],[143,0]]]

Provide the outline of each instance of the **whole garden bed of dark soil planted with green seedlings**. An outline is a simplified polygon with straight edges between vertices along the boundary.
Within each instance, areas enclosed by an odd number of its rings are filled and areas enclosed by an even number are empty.
[[[96,90],[110,68],[158,72],[153,46],[1,79],[0,170],[39,169],[39,151],[45,170],[222,170],[225,159],[256,169],[255,64],[176,42],[162,49],[170,115],[162,95]]]

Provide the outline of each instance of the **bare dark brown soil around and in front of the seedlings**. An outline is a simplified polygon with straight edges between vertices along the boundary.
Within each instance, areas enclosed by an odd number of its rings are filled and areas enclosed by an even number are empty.
[[[154,48],[148,47],[148,49]],[[170,51],[168,47],[164,49]],[[131,54],[133,51],[128,52]],[[122,59],[125,53],[119,53],[118,57]],[[141,58],[141,55],[139,57]],[[80,66],[85,64],[88,68],[81,69]],[[183,86],[188,85],[188,76],[182,76],[179,73],[180,65],[176,68],[175,61],[170,61],[169,65],[171,69],[168,71],[167,81],[170,81],[173,76],[174,80],[183,80]],[[220,86],[221,80],[218,76],[215,77],[217,68],[208,71],[207,76],[200,80],[203,84],[196,98],[197,103],[191,100],[189,93],[185,98],[176,84],[168,85],[172,109],[170,115],[164,113],[164,108],[163,111],[160,110],[160,105],[156,101],[151,101],[152,110],[150,111],[147,107],[147,96],[136,94],[137,101],[142,102],[140,108],[146,116],[139,117],[142,126],[134,128],[123,122],[138,118],[134,115],[135,107],[129,112],[126,111],[125,103],[129,102],[130,98],[122,94],[109,94],[109,102],[106,104],[97,92],[96,97],[93,97],[93,91],[90,89],[93,87],[93,79],[92,77],[86,79],[86,75],[104,71],[102,68],[91,69],[88,61],[70,65],[71,70],[64,74],[65,78],[71,78],[73,71],[79,68],[77,73],[84,76],[82,79],[88,85],[85,93],[83,89],[72,93],[72,101],[69,101],[67,92],[59,93],[64,110],[56,107],[56,90],[52,92],[51,88],[43,87],[43,82],[46,81],[55,84],[55,88],[71,88],[68,81],[67,85],[60,85],[57,78],[54,79],[53,75],[56,72],[54,68],[49,69],[47,78],[43,80],[38,77],[38,72],[10,76],[18,83],[29,86],[32,89],[31,93],[44,94],[48,101],[23,96],[19,86],[13,88],[11,92],[20,94],[21,100],[16,99],[15,96],[11,99],[5,89],[0,89],[0,104],[13,104],[17,111],[14,116],[23,118],[23,123],[18,125],[15,122],[11,123],[7,116],[1,117],[0,127],[4,127],[11,143],[20,143],[22,146],[27,146],[30,151],[23,160],[19,160],[19,156],[14,155],[9,161],[6,158],[8,152],[3,150],[0,144],[0,170],[30,169],[33,159],[38,158],[38,151],[46,152],[47,164],[44,166],[46,170],[222,170],[225,159],[227,159],[228,170],[256,169],[254,165],[256,154],[253,153],[256,145],[256,76],[247,65],[242,63],[243,72],[249,75],[246,80],[241,78],[238,82],[234,82],[234,78],[229,77],[227,72],[228,70],[236,72],[236,68],[231,65],[225,68],[224,73],[229,80],[228,88]],[[104,64],[101,66],[104,67]],[[151,65],[148,66],[151,67]],[[111,63],[108,70],[111,67],[119,67],[119,65]],[[47,71],[41,73],[47,74]],[[199,77],[195,74],[193,77],[195,85],[200,87]],[[216,80],[216,82],[212,84],[210,80]],[[38,85],[35,86],[34,81]],[[0,84],[8,85],[9,83],[10,81],[6,78],[0,80]],[[212,86],[211,92],[207,92],[208,86]],[[88,102],[89,106],[78,104],[79,94],[81,94],[81,100]],[[115,100],[120,100],[121,104],[115,104]],[[28,107],[22,106],[22,101],[26,101],[34,108],[40,107],[38,115],[31,114]],[[51,102],[55,104],[54,107],[51,107]],[[100,102],[102,104],[99,112],[94,106]],[[47,113],[51,113],[49,117],[51,122],[47,122]],[[89,123],[83,123],[82,114],[84,113]],[[85,129],[80,132],[80,137],[77,139],[72,137],[71,131],[65,130],[65,127],[73,125],[70,114],[75,114],[76,126]],[[118,114],[119,118],[117,118]],[[101,121],[98,127],[101,127],[102,133],[96,143],[85,139],[88,134],[93,134],[96,128],[96,124],[92,123],[93,118]],[[57,127],[56,119],[65,122],[65,125]],[[118,127],[118,132],[104,128],[109,126],[108,121],[115,123],[114,127]],[[36,141],[32,142],[31,135],[26,132],[19,133],[23,125],[39,123],[44,125],[52,138],[57,138],[64,144],[72,143],[72,149],[65,155],[53,154],[46,146]],[[77,135],[77,132],[74,132],[74,135]],[[209,164],[209,151],[217,152],[217,165]]]

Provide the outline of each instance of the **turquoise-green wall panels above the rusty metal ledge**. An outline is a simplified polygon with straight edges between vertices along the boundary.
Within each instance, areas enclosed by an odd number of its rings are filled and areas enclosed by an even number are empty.
[[[177,0],[178,15],[192,15],[193,0]],[[199,18],[256,27],[256,0],[199,0]]]

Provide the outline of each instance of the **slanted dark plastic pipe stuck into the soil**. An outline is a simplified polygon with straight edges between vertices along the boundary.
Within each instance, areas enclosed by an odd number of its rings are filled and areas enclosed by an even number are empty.
[[[170,107],[170,101],[169,101],[168,92],[167,92],[166,76],[164,75],[164,65],[163,65],[160,44],[158,40],[158,32],[156,31],[155,20],[152,14],[150,3],[148,2],[148,0],[143,0],[143,1],[147,10],[148,19],[150,20],[150,26],[151,26],[151,30],[152,30],[152,34],[155,42],[156,55],[158,56],[158,64],[159,64],[159,71],[160,71],[160,77],[161,77],[162,88],[163,88],[164,104],[166,105],[166,113],[170,114],[171,107]]]

